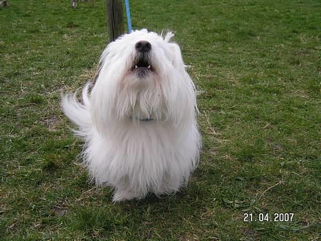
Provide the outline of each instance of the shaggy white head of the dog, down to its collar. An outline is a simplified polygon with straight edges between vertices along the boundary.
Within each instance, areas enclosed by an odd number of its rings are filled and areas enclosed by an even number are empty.
[[[193,83],[180,48],[169,43],[171,36],[139,30],[106,47],[91,93],[94,120],[176,119],[187,99],[195,102]]]

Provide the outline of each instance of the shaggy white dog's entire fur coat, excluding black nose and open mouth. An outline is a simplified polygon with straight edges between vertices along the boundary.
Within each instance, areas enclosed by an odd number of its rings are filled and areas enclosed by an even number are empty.
[[[104,50],[82,103],[75,94],[62,97],[64,113],[85,141],[84,163],[97,185],[115,188],[114,201],[176,192],[198,164],[195,88],[171,36],[124,34]],[[134,46],[142,40],[152,45],[143,56],[149,69],[135,68]]]

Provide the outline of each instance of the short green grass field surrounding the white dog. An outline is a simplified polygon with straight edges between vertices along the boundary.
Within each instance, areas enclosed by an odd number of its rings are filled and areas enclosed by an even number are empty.
[[[88,183],[60,111],[106,47],[95,2],[0,10],[0,240],[318,240],[320,1],[130,1],[134,28],[176,34],[202,91],[203,148],[178,194],[115,205]]]

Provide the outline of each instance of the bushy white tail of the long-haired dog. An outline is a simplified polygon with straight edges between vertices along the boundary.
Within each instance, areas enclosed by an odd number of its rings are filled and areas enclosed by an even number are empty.
[[[86,139],[92,131],[90,94],[88,89],[91,82],[88,82],[82,89],[82,103],[77,100],[77,91],[74,94],[62,95],[62,111],[78,126],[77,130],[73,130],[76,135]]]

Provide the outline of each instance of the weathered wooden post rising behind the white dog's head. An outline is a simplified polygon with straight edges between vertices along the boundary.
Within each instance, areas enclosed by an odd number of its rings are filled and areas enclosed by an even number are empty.
[[[106,0],[109,42],[115,41],[124,32],[123,5],[121,0]]]

